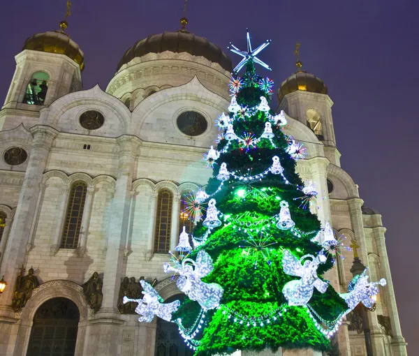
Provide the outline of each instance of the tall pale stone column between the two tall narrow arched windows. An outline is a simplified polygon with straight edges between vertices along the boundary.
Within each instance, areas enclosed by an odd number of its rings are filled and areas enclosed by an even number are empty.
[[[124,318],[117,309],[117,299],[124,269],[129,204],[140,140],[124,135],[117,138],[117,143],[119,164],[115,197],[110,207],[108,249],[103,271],[103,302],[96,313],[94,325],[91,325],[91,338],[101,346],[100,353],[103,356],[118,355],[122,345],[120,325],[124,323]]]

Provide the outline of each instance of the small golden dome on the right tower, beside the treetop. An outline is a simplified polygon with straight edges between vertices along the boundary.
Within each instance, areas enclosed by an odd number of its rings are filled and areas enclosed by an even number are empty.
[[[306,71],[297,71],[281,83],[281,87],[278,89],[279,103],[281,103],[286,94],[293,93],[293,91],[297,90],[328,94],[328,87],[325,86],[323,80]]]

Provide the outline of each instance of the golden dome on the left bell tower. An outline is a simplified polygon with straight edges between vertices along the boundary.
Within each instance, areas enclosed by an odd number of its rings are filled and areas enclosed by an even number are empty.
[[[34,34],[34,36],[24,41],[23,50],[65,54],[80,66],[80,71],[84,69],[84,53],[64,31],[47,31],[43,34]]]

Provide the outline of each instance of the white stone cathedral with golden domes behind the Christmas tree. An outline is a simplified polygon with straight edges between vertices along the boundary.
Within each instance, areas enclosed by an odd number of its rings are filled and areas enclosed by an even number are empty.
[[[82,88],[84,55],[64,30],[28,38],[15,60],[0,111],[0,355],[191,355],[177,327],[139,323],[120,299],[140,277],[179,297],[162,265],[193,226],[184,199],[212,174],[202,158],[228,111],[231,60],[184,27],[135,43],[105,91]],[[374,353],[405,356],[385,228],[341,168],[328,88],[297,68],[278,98],[284,131],[307,147],[297,171],[316,183],[322,223],[388,281],[368,312]],[[344,292],[342,253],[328,279]],[[341,355],[367,355],[359,316],[337,340]]]

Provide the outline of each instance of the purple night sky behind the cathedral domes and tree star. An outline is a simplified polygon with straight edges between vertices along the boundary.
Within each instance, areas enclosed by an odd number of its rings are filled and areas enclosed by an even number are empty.
[[[149,34],[179,29],[182,0],[72,0],[68,34],[85,54],[84,89],[105,90],[124,51]],[[341,165],[360,186],[367,207],[383,215],[402,332],[410,355],[418,327],[418,92],[419,1],[188,1],[188,29],[219,45],[272,44],[260,59],[279,84],[303,68],[324,80]],[[258,7],[256,7],[258,6]],[[3,1],[0,13],[0,98],[6,98],[14,56],[32,34],[58,29],[65,0]],[[241,57],[231,54],[233,63]],[[276,103],[275,103],[276,108]],[[416,163],[415,163],[416,162]],[[381,355],[377,355],[381,356]]]

